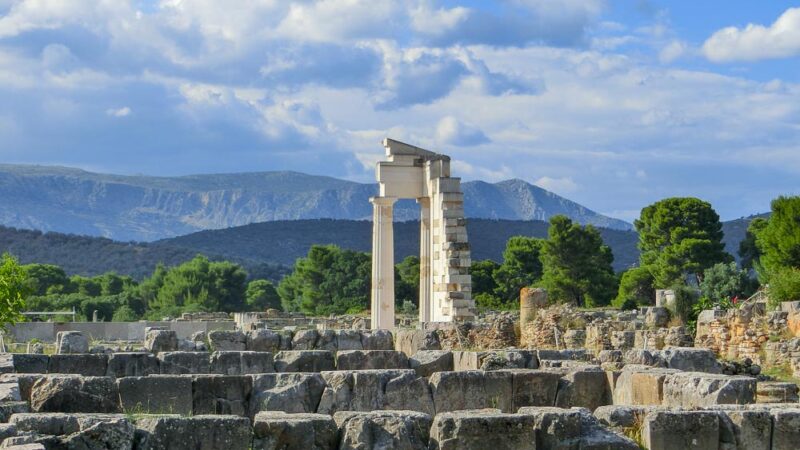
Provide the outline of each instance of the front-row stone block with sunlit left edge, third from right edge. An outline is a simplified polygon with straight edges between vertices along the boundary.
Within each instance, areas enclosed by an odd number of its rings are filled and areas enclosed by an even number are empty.
[[[656,411],[645,417],[642,441],[649,450],[719,449],[714,411]]]

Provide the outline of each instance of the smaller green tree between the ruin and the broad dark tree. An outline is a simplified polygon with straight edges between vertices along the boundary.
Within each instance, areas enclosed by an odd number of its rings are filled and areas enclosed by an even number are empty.
[[[506,243],[503,263],[493,272],[496,284],[494,294],[502,302],[513,304],[519,299],[520,289],[542,278],[543,240],[514,236]]]

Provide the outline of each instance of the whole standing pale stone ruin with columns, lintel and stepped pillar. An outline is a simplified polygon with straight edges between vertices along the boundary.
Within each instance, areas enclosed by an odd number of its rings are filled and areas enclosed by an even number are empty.
[[[394,233],[398,199],[420,205],[419,321],[471,319],[475,303],[461,179],[450,176],[450,157],[385,139],[388,161],[378,163],[380,195],[372,231],[372,328],[394,328]]]

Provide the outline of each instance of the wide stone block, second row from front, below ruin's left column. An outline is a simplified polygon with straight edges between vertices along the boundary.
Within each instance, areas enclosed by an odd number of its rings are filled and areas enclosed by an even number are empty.
[[[411,410],[433,414],[425,378],[406,370],[322,372],[325,390],[317,412]]]

